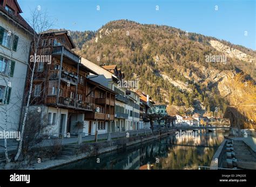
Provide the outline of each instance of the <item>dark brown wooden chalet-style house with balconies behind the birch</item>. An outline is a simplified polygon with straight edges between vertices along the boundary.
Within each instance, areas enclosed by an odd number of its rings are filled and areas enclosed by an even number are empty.
[[[54,136],[104,133],[114,118],[115,93],[87,78],[89,73],[97,74],[80,63],[74,48],[68,31],[44,32],[36,58],[30,59],[31,67],[36,59],[31,105],[47,116],[46,131]]]

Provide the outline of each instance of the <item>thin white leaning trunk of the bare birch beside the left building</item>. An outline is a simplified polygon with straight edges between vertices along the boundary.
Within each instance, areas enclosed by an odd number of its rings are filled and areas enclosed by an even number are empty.
[[[33,87],[33,76],[34,76],[34,72],[35,72],[35,67],[36,67],[36,53],[34,54],[33,69],[32,69],[32,74],[31,74],[31,79],[30,79],[30,86],[29,86],[29,95],[28,95],[28,100],[26,102],[25,113],[24,113],[23,122],[22,122],[21,139],[19,141],[18,152],[17,152],[17,154],[15,156],[15,159],[14,159],[15,161],[18,160],[19,155],[21,154],[21,150],[22,150],[23,134],[24,134],[24,129],[25,129],[26,116],[27,116],[28,111],[29,111],[29,103],[30,103],[32,87]]]

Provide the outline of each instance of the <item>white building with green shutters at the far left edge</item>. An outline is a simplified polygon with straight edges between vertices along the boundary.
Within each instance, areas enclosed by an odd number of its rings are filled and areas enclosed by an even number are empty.
[[[0,131],[18,130],[33,29],[17,1],[0,1]]]

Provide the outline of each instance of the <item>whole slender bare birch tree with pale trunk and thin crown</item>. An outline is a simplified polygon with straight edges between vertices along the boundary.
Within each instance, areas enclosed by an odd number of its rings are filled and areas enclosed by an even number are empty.
[[[32,88],[33,88],[33,78],[35,73],[35,67],[37,62],[37,55],[39,52],[39,47],[42,43],[42,33],[45,31],[48,31],[53,23],[49,21],[50,18],[48,17],[47,12],[42,12],[41,8],[38,7],[38,9],[35,9],[31,12],[31,18],[28,20],[28,23],[33,28],[33,35],[32,35],[32,45],[31,45],[31,54],[33,54],[33,62],[29,63],[29,70],[31,71],[30,77],[28,77],[29,82],[29,91],[28,91],[28,98],[25,100],[25,107],[24,107],[24,114],[21,124],[21,141],[19,141],[18,151],[15,156],[15,161],[18,160],[19,155],[22,152],[22,146],[23,146],[23,136],[24,136],[24,130],[26,125],[26,118],[28,116],[29,106],[31,102],[31,94],[32,94]]]

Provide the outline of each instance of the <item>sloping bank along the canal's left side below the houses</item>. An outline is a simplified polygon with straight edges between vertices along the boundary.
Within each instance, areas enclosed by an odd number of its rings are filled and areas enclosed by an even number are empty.
[[[126,147],[143,144],[155,139],[163,138],[169,134],[174,133],[174,130],[170,130],[162,133],[153,133],[133,136],[130,138],[123,138],[119,140],[100,141],[92,143],[82,143],[81,145],[65,145],[63,147],[65,155],[58,156],[56,159],[41,159],[41,162],[33,162],[28,167],[19,167],[19,169],[52,169],[64,164],[76,162],[82,159],[87,159],[92,156],[113,152],[115,150],[125,150]],[[69,151],[68,151],[69,150]],[[69,154],[70,153],[70,154]],[[5,169],[12,169],[15,167],[14,163],[10,163]]]

